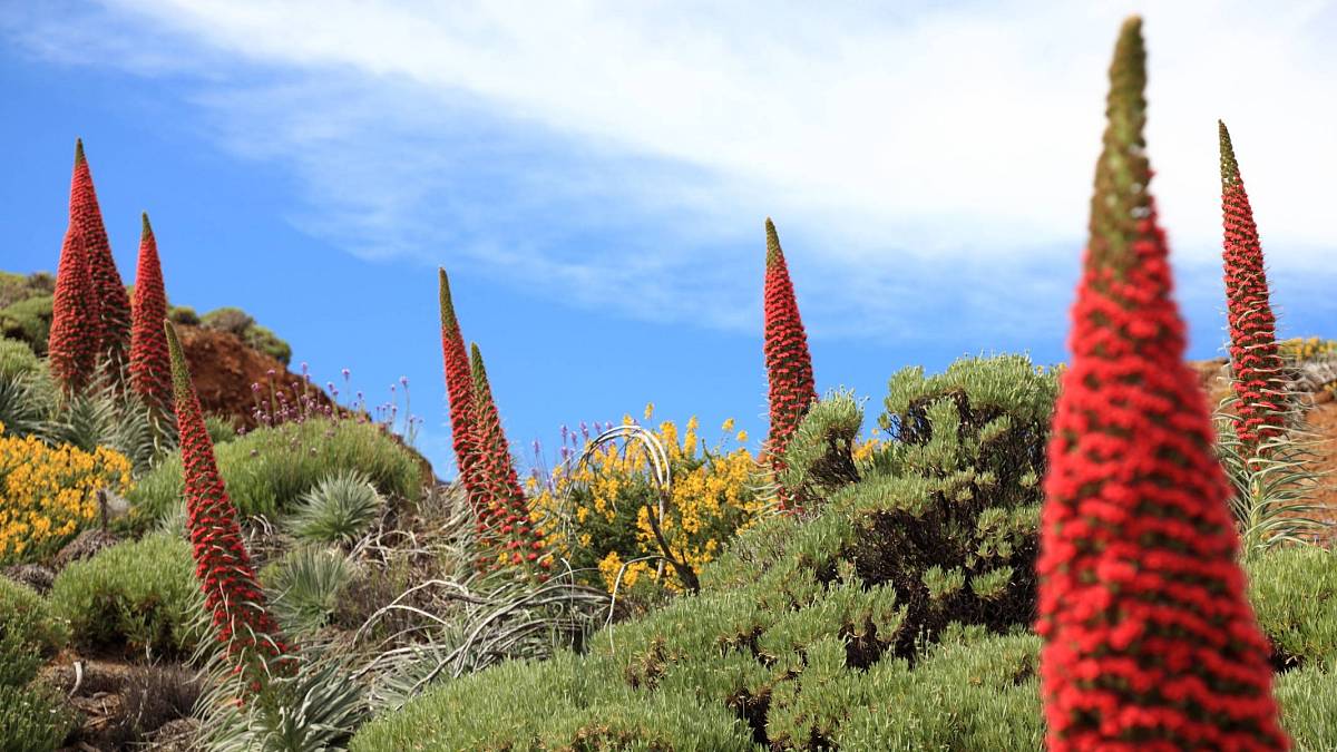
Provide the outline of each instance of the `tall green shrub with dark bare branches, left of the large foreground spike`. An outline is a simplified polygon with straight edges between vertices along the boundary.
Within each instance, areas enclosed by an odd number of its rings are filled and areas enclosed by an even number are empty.
[[[878,419],[889,440],[861,463],[862,411],[850,395],[818,403],[800,426],[782,480],[852,515],[860,575],[892,583],[906,607],[897,654],[953,621],[995,632],[1029,624],[1056,395],[1056,377],[1024,356],[972,357],[937,376],[892,376]]]

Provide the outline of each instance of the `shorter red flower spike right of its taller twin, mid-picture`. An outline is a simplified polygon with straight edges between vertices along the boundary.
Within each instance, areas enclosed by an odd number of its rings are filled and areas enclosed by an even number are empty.
[[[511,462],[511,444],[507,442],[505,431],[501,428],[501,416],[492,399],[492,387],[488,384],[488,372],[483,365],[483,353],[479,351],[479,345],[472,345],[469,355],[473,376],[473,440],[475,451],[477,452],[473,472],[476,474],[475,480],[479,487],[480,500],[483,506],[495,504],[496,507],[513,507],[527,511],[529,502],[515,472],[515,464]],[[519,526],[509,525],[519,519],[523,518],[509,515],[507,519],[508,523],[496,526],[496,531],[501,538],[495,546],[508,551],[521,546],[532,547],[537,545],[533,542],[531,534],[521,534],[519,533]],[[523,563],[519,553],[512,554],[511,563]]]

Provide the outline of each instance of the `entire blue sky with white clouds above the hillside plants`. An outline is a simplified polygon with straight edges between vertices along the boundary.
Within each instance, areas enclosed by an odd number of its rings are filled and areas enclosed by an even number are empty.
[[[238,305],[372,401],[408,376],[449,474],[437,265],[517,452],[646,401],[755,444],[771,215],[820,388],[872,417],[902,365],[1066,357],[1139,5],[7,3],[0,268],[55,269],[82,136],[127,281],[147,210],[174,302]],[[1190,355],[1223,337],[1218,116],[1286,332],[1337,336],[1337,7],[1143,12]]]

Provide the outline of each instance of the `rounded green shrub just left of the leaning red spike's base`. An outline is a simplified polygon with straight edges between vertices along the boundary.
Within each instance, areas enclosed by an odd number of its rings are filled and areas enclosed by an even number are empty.
[[[159,533],[67,566],[51,607],[82,645],[183,656],[199,642],[205,606],[190,545]]]

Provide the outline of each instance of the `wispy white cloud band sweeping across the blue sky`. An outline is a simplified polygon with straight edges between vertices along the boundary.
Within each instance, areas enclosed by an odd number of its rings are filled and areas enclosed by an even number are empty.
[[[8,25],[53,59],[194,75],[219,142],[291,169],[291,219],[354,253],[743,329],[771,214],[821,333],[904,340],[924,312],[1011,331],[1066,305],[1139,5],[1181,257],[1215,249],[1218,116],[1273,265],[1337,249],[1333,3],[110,0]]]

